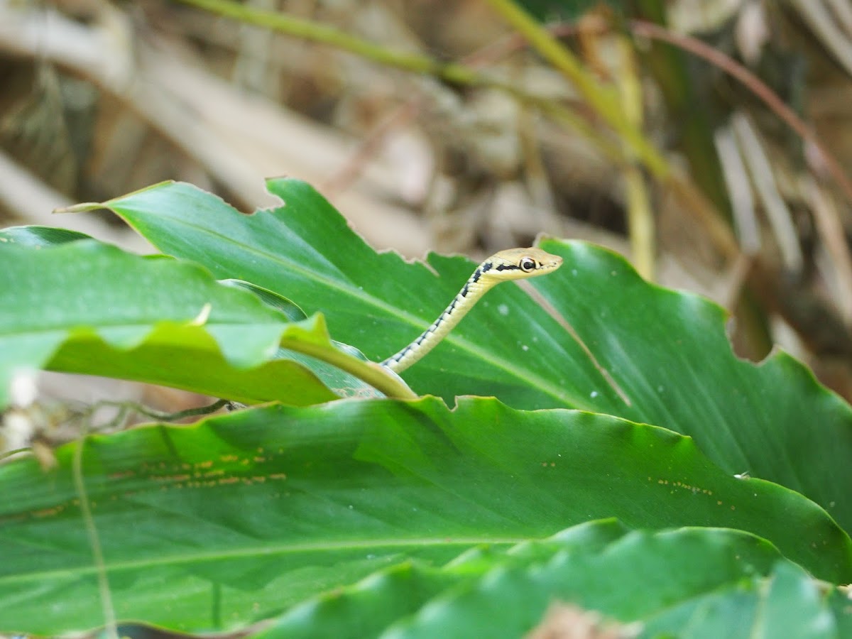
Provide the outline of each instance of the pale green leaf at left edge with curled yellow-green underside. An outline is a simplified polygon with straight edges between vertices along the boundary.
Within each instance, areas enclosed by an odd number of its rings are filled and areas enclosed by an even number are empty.
[[[282,338],[334,348],[320,318],[291,323],[196,265],[85,240],[0,245],[0,270],[0,405],[14,374],[40,368],[239,401],[336,397],[303,366],[273,360]]]

